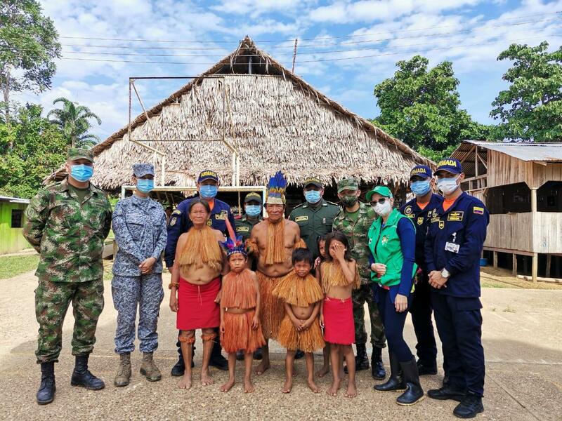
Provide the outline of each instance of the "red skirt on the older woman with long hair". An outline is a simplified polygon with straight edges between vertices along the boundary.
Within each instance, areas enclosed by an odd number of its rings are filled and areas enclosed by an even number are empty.
[[[221,307],[215,302],[220,290],[220,278],[215,278],[205,285],[194,285],[180,277],[176,328],[195,330],[220,326]]]

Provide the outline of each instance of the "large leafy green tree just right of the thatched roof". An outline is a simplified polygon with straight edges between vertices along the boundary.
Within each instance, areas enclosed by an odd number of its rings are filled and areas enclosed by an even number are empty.
[[[396,66],[393,77],[374,87],[381,114],[373,123],[434,160],[450,154],[463,139],[488,137],[490,126],[459,109],[459,80],[451,62],[429,69],[429,60],[415,55]]]

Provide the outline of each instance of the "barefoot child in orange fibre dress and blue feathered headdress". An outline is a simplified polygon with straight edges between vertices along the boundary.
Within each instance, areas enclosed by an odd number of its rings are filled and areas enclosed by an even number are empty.
[[[247,269],[248,255],[242,244],[228,239],[226,260],[230,272],[223,276],[221,296],[221,343],[228,352],[228,382],[221,386],[221,392],[228,392],[235,382],[236,352],[244,353],[244,393],[254,392],[251,382],[251,363],[254,351],[264,345],[259,326],[259,284],[255,272]]]

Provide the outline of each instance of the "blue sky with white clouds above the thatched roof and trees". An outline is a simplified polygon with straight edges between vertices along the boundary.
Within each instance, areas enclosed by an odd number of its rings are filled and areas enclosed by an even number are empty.
[[[392,76],[396,61],[416,53],[428,57],[430,65],[451,60],[460,81],[462,107],[483,123],[492,122],[490,103],[507,86],[502,74],[509,62],[498,62],[499,52],[513,42],[537,45],[547,40],[551,49],[562,44],[562,13],[556,13],[562,11],[562,0],[44,0],[41,4],[61,36],[63,60],[57,61],[50,91],[22,93],[15,99],[41,102],[46,110],[60,96],[76,100],[101,117],[103,124],[93,133],[102,139],[126,125],[129,76],[200,74],[233,51],[246,34],[289,69],[293,40],[298,38],[296,74],[367,118],[378,114],[374,86]],[[131,41],[136,39],[176,42]],[[337,60],[320,61],[325,59]],[[138,83],[138,88],[150,106],[181,84],[151,81]],[[140,112],[138,107],[134,112]]]

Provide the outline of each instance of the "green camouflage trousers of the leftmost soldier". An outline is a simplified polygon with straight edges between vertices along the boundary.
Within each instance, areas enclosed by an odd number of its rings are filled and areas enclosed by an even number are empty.
[[[96,343],[96,326],[103,310],[103,280],[52,282],[40,280],[35,290],[35,315],[39,323],[37,363],[58,361],[63,348],[63,322],[72,302],[74,333],[72,355],[90,354]]]

